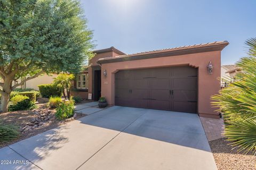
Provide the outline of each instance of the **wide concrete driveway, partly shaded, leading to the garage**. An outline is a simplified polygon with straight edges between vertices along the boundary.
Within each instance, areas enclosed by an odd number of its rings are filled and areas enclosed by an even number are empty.
[[[24,162],[0,169],[217,169],[196,114],[119,106],[2,148],[0,158]]]

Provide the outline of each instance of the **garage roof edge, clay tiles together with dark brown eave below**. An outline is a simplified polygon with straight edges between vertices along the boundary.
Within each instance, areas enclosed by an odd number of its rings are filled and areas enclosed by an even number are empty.
[[[149,52],[135,53],[135,54],[126,54],[115,57],[100,58],[98,63],[112,63],[112,62],[121,62],[129,60],[142,60],[146,58],[155,58],[155,57],[166,57],[166,56],[177,56],[193,53],[202,53],[202,52],[211,52],[215,50],[222,50],[228,45],[228,41],[215,41],[213,43],[190,45],[183,47],[175,48],[166,48],[153,50]]]

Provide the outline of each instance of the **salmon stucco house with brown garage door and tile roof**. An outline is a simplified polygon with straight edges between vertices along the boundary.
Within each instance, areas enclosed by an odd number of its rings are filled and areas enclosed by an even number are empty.
[[[74,96],[108,105],[197,113],[219,118],[210,97],[220,90],[221,50],[229,43],[183,46],[124,54],[110,47],[95,50],[89,66],[77,74]]]

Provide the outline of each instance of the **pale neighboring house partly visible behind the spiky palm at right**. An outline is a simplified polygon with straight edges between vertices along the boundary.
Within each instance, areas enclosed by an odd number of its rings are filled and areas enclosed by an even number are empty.
[[[241,71],[241,68],[236,65],[222,65],[221,66],[221,87],[227,86],[227,81],[233,81],[235,75]],[[224,81],[226,80],[226,82]]]

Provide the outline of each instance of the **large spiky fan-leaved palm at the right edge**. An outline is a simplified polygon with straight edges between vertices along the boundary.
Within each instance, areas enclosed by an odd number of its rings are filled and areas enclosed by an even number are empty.
[[[256,38],[246,41],[247,57],[236,65],[242,68],[234,82],[212,98],[225,120],[225,135],[238,151],[256,153]]]

